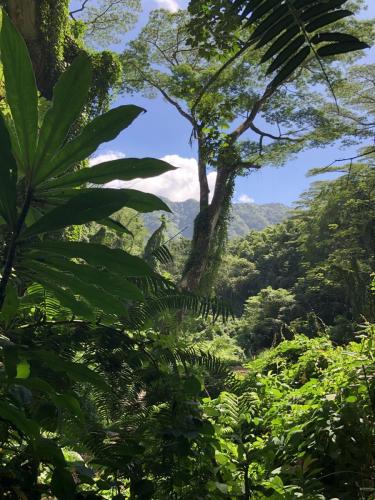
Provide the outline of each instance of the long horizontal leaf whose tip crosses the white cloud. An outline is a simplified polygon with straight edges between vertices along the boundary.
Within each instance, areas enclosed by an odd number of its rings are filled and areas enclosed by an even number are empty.
[[[154,158],[123,158],[83,168],[78,172],[64,175],[58,179],[47,181],[40,186],[40,190],[51,188],[66,188],[81,186],[85,182],[91,184],[105,184],[113,180],[130,181],[137,178],[155,177],[164,174],[175,167],[163,160]]]

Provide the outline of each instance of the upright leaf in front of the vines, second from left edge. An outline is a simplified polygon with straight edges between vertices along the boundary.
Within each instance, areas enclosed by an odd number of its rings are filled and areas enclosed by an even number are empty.
[[[91,77],[90,59],[80,55],[56,83],[52,106],[39,133],[35,165],[41,173],[48,170],[51,158],[64,144],[70,127],[78,118],[87,100]]]

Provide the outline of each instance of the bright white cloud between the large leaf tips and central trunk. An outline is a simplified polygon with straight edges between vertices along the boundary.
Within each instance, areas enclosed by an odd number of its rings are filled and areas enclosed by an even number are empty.
[[[103,161],[116,160],[124,158],[124,154],[118,151],[108,151],[90,161],[91,165]],[[182,158],[178,155],[167,155],[162,160],[170,163],[177,170],[166,172],[158,177],[150,179],[135,179],[134,181],[112,181],[107,187],[120,189],[131,188],[153,193],[157,196],[164,196],[171,201],[185,201],[189,199],[199,200],[199,182],[198,182],[198,163],[195,158]],[[211,192],[215,187],[216,172],[210,172],[207,175],[208,185]]]

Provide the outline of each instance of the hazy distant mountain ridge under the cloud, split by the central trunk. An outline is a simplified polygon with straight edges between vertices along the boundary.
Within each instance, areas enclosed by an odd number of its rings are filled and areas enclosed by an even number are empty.
[[[173,202],[165,199],[172,210],[172,214],[166,214],[170,221],[168,233],[171,236],[182,231],[185,238],[193,235],[193,222],[198,214],[199,203],[196,200]],[[235,203],[232,208],[232,219],[229,224],[229,237],[244,236],[251,229],[263,229],[266,226],[278,224],[288,217],[290,208],[282,203],[267,203],[257,205],[255,203]],[[155,231],[160,225],[160,216],[164,212],[154,212],[144,215],[145,226],[150,232]]]

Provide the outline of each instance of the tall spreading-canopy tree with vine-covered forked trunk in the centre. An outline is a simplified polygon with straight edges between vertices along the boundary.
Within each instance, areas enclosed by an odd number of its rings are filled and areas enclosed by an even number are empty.
[[[124,90],[159,92],[189,122],[197,142],[200,213],[181,281],[182,288],[196,290],[211,282],[217,267],[236,177],[266,164],[282,165],[298,151],[353,128],[344,127],[339,115],[325,115],[326,98],[316,90],[324,76],[314,59],[296,78],[275,84],[264,76],[259,51],[233,59],[230,52],[214,48],[206,55],[191,47],[189,21],[182,11],[153,12],[124,52],[123,65]],[[212,193],[210,168],[217,170]]]

